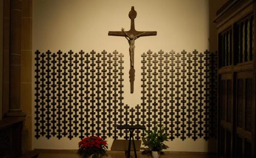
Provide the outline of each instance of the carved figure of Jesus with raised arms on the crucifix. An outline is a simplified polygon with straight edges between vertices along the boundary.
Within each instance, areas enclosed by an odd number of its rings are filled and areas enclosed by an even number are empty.
[[[135,40],[137,38],[139,38],[141,35],[145,34],[145,32],[139,34],[139,35],[136,35],[134,36],[133,34],[131,34],[130,36],[124,31],[124,29],[122,28],[121,29],[122,32],[125,34],[125,38],[127,39],[127,41],[129,42],[129,45],[130,45],[130,48],[129,48],[129,52],[130,52],[130,60],[131,60],[131,65],[132,67],[134,67],[134,49],[135,49]]]

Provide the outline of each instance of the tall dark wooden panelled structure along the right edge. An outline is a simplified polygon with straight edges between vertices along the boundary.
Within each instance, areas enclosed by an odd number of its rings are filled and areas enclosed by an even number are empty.
[[[255,9],[253,0],[228,1],[215,20],[219,50],[218,157],[255,155]]]

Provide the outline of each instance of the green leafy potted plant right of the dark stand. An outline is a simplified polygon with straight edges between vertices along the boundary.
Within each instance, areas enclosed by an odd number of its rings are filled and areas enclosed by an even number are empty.
[[[145,130],[147,137],[143,138],[143,145],[147,146],[147,148],[144,148],[144,151],[142,154],[151,153],[151,151],[158,151],[161,153],[163,149],[167,149],[168,146],[166,146],[163,142],[167,141],[167,135],[163,134],[164,129],[157,130],[157,127],[154,128],[153,131]]]

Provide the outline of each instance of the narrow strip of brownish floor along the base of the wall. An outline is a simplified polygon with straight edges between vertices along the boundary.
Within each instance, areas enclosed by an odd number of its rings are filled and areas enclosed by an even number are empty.
[[[125,157],[124,152],[121,151],[108,151],[108,156],[111,158],[120,158]],[[138,158],[146,158],[146,157],[152,157],[151,155],[142,155],[140,152],[137,153]],[[132,154],[134,157],[134,155]],[[59,158],[81,158],[80,155],[76,154],[75,152],[61,152],[61,151],[55,151],[55,152],[47,152],[47,151],[39,151],[39,158],[52,158],[52,157],[59,157]],[[187,153],[187,152],[165,152],[164,155],[160,155],[159,158],[213,158],[214,156],[204,154],[204,153]]]

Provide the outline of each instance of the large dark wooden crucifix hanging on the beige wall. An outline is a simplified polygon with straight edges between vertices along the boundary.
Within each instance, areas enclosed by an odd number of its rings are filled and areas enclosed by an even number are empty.
[[[134,49],[135,49],[135,40],[142,36],[156,36],[156,31],[136,31],[134,25],[134,19],[137,16],[137,12],[134,10],[134,6],[132,6],[131,11],[129,12],[129,17],[131,19],[131,29],[130,31],[124,31],[122,28],[121,31],[109,31],[109,36],[123,36],[125,37],[130,45],[130,71],[129,78],[131,83],[131,93],[134,91],[134,78],[135,78],[135,69],[134,69]]]

